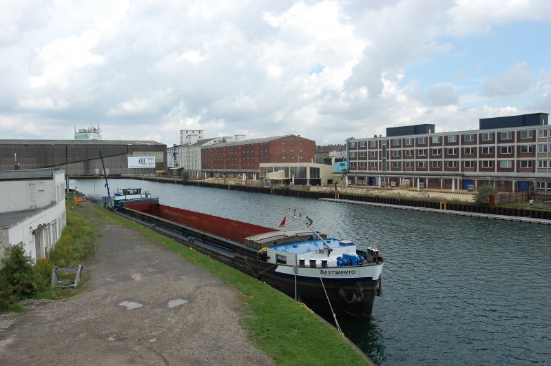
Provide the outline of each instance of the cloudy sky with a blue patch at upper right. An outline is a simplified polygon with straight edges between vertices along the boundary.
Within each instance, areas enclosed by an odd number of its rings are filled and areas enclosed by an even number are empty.
[[[0,0],[0,139],[318,145],[551,111],[548,0]]]

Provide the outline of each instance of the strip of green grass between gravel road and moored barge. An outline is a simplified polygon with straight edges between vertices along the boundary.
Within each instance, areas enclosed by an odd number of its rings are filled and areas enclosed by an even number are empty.
[[[67,219],[70,216],[72,222],[79,225],[98,223],[97,230],[107,222],[142,232],[149,240],[165,245],[167,249],[180,254],[187,261],[205,268],[225,283],[235,287],[242,294],[245,312],[249,314],[241,319],[240,325],[249,330],[253,344],[273,358],[278,365],[367,364],[366,358],[341,338],[334,327],[329,326],[289,296],[251,276],[222,265],[138,223],[112,212],[107,213],[95,205],[83,205],[76,210],[67,210]],[[90,238],[94,243],[94,236]]]

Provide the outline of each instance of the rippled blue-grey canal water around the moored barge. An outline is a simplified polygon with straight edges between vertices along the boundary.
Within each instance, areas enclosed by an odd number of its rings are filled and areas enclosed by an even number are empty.
[[[70,188],[105,195],[104,183]],[[293,207],[320,232],[376,244],[384,297],[370,320],[339,322],[378,365],[551,364],[550,226],[147,181],[110,187],[142,187],[165,205],[275,228],[287,215],[288,228],[303,229]]]

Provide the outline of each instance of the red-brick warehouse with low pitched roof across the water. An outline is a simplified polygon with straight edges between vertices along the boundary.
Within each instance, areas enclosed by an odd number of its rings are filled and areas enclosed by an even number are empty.
[[[209,176],[256,179],[260,163],[311,163],[315,141],[296,135],[218,143],[201,149],[201,170]]]

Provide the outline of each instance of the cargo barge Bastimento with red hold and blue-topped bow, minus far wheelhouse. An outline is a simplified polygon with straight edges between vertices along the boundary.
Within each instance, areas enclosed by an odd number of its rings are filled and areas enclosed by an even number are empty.
[[[384,259],[373,248],[308,230],[277,230],[158,201],[124,201],[117,212],[302,301],[314,312],[368,318],[382,296]]]

